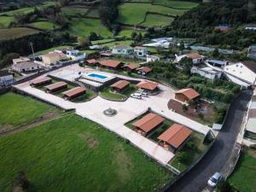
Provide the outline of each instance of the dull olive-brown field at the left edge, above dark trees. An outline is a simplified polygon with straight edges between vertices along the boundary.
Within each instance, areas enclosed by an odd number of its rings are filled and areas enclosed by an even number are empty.
[[[27,35],[36,34],[38,32],[38,30],[26,27],[0,29],[0,41],[9,40],[12,38],[21,38]]]

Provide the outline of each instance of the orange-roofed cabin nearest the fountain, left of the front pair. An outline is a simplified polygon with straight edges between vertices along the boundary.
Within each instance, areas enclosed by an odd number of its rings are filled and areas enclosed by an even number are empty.
[[[164,122],[164,118],[155,113],[148,113],[142,119],[137,120],[132,124],[132,128],[143,136],[154,131],[159,125]]]

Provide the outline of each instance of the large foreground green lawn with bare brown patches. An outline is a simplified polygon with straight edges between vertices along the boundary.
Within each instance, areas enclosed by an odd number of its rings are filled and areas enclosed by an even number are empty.
[[[13,191],[20,170],[29,191],[155,191],[173,177],[100,125],[70,114],[0,137],[0,190]]]

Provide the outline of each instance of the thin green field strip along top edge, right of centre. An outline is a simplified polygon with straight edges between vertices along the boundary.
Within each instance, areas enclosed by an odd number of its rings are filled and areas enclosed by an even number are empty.
[[[199,3],[172,0],[154,0],[154,4],[161,4],[174,9],[192,9],[199,5]]]

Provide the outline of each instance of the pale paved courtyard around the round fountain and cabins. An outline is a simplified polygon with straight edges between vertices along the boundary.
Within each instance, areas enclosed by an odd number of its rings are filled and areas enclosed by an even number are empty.
[[[63,71],[61,68],[60,71]],[[78,65],[67,67],[74,74],[74,70],[84,72],[92,72],[94,69],[84,69]],[[103,72],[101,72],[103,73]],[[107,73],[106,73],[107,74]],[[109,74],[109,73],[108,73]],[[45,76],[45,75],[44,75]],[[43,76],[39,77],[42,78]],[[127,77],[119,77],[124,79],[131,79]],[[137,79],[138,80],[138,79]],[[150,141],[148,138],[141,136],[136,131],[132,131],[125,126],[125,123],[131,119],[135,119],[138,115],[146,112],[148,108],[151,108],[155,113],[160,113],[166,119],[171,119],[179,124],[188,126],[190,129],[207,134],[209,127],[201,125],[192,119],[188,119],[178,113],[172,112],[168,109],[167,103],[171,98],[174,98],[174,90],[160,84],[160,90],[162,92],[157,96],[148,96],[142,100],[129,98],[125,102],[111,102],[97,96],[90,102],[74,103],[65,101],[58,96],[45,93],[43,90],[38,90],[29,86],[29,82],[23,84],[17,84],[15,87],[19,90],[26,91],[26,93],[38,97],[41,100],[54,104],[63,109],[75,109],[76,113],[83,118],[90,119],[96,123],[104,126],[109,131],[113,131],[121,137],[128,139],[137,148],[142,149],[146,154],[160,162],[162,165],[166,165],[174,154],[167,151],[165,148],[160,147],[157,143]],[[117,114],[113,117],[108,117],[103,114],[103,111],[107,108],[114,108],[117,110]]]

